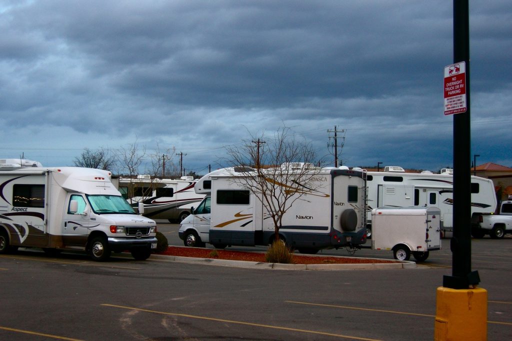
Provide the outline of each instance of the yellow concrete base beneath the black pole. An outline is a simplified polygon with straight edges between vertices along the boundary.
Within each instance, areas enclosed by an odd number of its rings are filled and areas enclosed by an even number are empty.
[[[434,340],[487,340],[487,290],[437,288]]]

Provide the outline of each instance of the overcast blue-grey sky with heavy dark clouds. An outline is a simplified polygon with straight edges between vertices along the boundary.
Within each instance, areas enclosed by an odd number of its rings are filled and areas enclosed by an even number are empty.
[[[65,166],[137,142],[205,174],[224,146],[286,125],[332,163],[336,126],[346,165],[451,167],[452,6],[0,0],[0,158]],[[471,155],[512,167],[512,2],[470,13]]]

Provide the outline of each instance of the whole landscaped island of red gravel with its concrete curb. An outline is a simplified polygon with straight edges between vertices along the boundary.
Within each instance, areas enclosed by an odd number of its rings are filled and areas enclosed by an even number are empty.
[[[169,246],[152,255],[155,259],[197,264],[286,270],[350,270],[415,268],[411,261],[383,260],[327,255],[293,254],[293,264],[268,263],[265,252],[230,251],[198,247]]]

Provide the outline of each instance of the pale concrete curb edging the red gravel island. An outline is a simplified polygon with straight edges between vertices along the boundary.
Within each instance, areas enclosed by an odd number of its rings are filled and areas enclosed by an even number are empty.
[[[319,255],[318,257],[322,257]],[[336,256],[329,256],[336,257]],[[365,258],[375,259],[378,258]],[[264,262],[231,261],[211,258],[194,258],[167,256],[161,254],[152,254],[149,260],[163,262],[179,262],[190,264],[204,264],[217,266],[231,266],[239,268],[252,269],[275,269],[275,270],[376,270],[376,269],[412,269],[416,268],[416,263],[412,261],[395,261],[395,263],[355,263],[355,264],[280,264]]]

